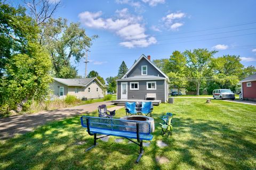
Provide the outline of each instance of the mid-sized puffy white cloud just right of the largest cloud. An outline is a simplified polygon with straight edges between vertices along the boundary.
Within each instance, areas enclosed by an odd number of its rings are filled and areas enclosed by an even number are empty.
[[[179,27],[184,25],[181,22],[178,22],[182,18],[185,18],[186,14],[183,12],[174,12],[167,14],[162,18],[162,21],[164,22],[164,25],[169,30],[178,30]]]

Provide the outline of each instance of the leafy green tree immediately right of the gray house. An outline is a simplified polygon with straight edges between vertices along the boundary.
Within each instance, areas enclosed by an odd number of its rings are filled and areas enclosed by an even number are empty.
[[[169,61],[165,61],[165,72],[170,79],[172,86],[178,88],[185,87],[186,80],[186,57],[179,51],[174,51],[170,56]]]

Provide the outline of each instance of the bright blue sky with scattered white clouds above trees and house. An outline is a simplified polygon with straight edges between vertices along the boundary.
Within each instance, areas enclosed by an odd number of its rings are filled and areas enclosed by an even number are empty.
[[[240,55],[242,64],[256,66],[255,6],[254,0],[63,0],[54,17],[81,22],[87,35],[99,36],[88,72],[107,78],[141,54],[155,60],[194,48],[218,50],[215,57]],[[83,61],[74,65],[84,76]]]

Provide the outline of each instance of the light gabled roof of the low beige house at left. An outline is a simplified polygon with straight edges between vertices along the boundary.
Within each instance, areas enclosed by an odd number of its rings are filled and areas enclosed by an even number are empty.
[[[84,87],[91,83],[93,80],[97,81],[100,86],[104,87],[103,84],[97,78],[81,78],[81,79],[60,79],[60,78],[53,78],[53,80],[58,81],[66,86],[78,86]]]

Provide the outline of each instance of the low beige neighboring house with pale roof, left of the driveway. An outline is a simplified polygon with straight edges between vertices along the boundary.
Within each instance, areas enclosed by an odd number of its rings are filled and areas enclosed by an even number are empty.
[[[50,89],[55,97],[74,95],[79,99],[103,98],[104,85],[97,78],[60,79],[53,78]]]

